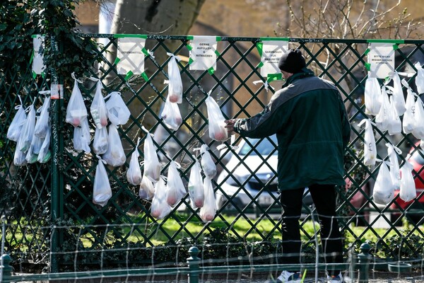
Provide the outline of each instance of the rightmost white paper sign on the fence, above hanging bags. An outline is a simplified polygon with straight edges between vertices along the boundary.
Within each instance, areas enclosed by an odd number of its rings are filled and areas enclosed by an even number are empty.
[[[394,71],[393,43],[371,43],[367,55],[370,76],[384,79]]]

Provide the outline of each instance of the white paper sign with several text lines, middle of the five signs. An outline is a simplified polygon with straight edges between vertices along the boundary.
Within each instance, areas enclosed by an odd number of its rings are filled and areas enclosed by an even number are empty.
[[[194,36],[190,42],[190,70],[208,70],[213,67],[216,70],[216,37],[215,36]]]

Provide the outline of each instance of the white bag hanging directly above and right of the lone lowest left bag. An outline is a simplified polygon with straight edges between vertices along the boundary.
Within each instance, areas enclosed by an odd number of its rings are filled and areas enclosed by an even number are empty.
[[[109,126],[109,136],[107,137],[107,151],[103,154],[103,160],[110,166],[122,166],[126,161],[121,137],[119,137],[118,126]]]

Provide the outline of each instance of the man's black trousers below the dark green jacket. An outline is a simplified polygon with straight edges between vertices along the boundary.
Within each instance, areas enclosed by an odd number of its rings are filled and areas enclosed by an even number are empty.
[[[283,190],[283,263],[299,264],[302,255],[299,219],[302,212],[302,196],[305,188]],[[322,249],[327,263],[343,262],[341,233],[336,218],[336,190],[334,185],[311,185],[312,200],[319,214]],[[318,247],[317,247],[318,248]],[[338,275],[340,270],[329,267],[329,275]]]

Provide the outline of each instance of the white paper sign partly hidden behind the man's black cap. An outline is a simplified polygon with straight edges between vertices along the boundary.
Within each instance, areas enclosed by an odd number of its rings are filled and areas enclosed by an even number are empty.
[[[263,41],[261,62],[264,64],[261,67],[261,76],[268,76],[268,74],[279,74],[281,71],[278,69],[278,61],[281,56],[288,51],[288,41]]]

